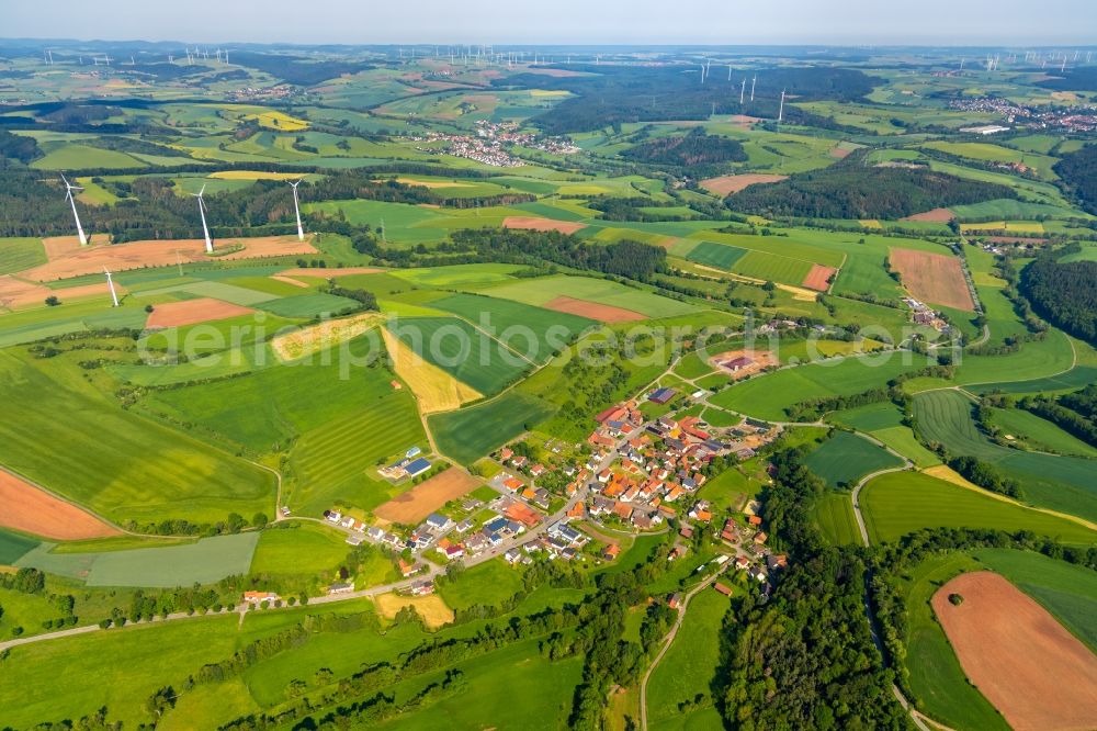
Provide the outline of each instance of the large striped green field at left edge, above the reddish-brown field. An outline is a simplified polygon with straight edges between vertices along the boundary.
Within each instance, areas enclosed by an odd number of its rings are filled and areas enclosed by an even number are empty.
[[[0,421],[0,463],[117,522],[272,509],[272,475],[124,411],[83,375],[67,357],[0,352],[0,401],[21,415]]]

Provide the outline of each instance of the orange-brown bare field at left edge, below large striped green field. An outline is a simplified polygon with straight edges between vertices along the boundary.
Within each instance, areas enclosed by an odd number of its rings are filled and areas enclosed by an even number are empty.
[[[0,470],[0,526],[60,541],[118,536],[122,531],[71,503]]]

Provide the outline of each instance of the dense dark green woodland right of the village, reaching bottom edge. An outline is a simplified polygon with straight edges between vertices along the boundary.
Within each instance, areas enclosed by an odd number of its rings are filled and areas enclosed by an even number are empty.
[[[790,566],[768,601],[739,599],[736,621],[726,626],[724,723],[750,731],[907,729],[891,693],[894,674],[864,617],[866,559],[827,546],[814,527],[811,506],[826,488],[801,464],[803,453],[772,458],[764,511]]]

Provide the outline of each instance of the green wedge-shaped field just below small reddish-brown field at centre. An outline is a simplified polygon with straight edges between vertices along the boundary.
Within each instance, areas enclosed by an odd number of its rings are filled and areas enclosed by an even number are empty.
[[[463,317],[536,363],[547,361],[596,325],[586,317],[476,294],[454,294],[433,300],[430,306]]]

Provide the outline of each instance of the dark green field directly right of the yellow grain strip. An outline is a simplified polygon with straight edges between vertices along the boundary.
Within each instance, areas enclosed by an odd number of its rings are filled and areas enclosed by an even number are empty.
[[[405,317],[386,327],[423,360],[485,395],[499,393],[533,367],[530,360],[457,317]]]

